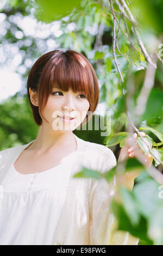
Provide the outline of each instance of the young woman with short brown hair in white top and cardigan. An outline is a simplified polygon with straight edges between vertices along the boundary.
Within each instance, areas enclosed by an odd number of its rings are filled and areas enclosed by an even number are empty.
[[[116,231],[115,179],[73,178],[83,166],[105,172],[116,165],[109,148],[73,133],[98,104],[92,65],[76,51],[48,52],[30,70],[27,91],[40,129],[34,141],[0,152],[0,244],[136,245]]]

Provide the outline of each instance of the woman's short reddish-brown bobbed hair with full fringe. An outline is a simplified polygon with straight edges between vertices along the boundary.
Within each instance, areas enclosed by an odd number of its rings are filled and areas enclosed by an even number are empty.
[[[42,124],[42,110],[46,106],[48,96],[56,83],[65,92],[69,88],[74,93],[85,92],[90,103],[89,112],[91,114],[86,115],[82,124],[87,123],[98,104],[99,86],[95,70],[90,62],[82,53],[73,50],[47,52],[37,59],[32,66],[27,80],[27,91],[35,123],[37,125]],[[38,107],[30,101],[29,87],[36,92],[39,98]],[[46,121],[45,118],[43,119]]]

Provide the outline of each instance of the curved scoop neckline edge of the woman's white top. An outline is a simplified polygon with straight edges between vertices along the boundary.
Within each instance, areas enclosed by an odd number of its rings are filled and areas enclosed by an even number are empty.
[[[76,144],[77,144],[76,151],[73,151],[73,152],[70,153],[68,156],[65,156],[65,157],[64,157],[64,160],[62,160],[62,162],[59,163],[57,166],[54,166],[54,167],[49,168],[49,169],[47,169],[47,170],[43,170],[43,172],[34,172],[34,173],[27,173],[27,174],[23,174],[23,173],[17,172],[17,170],[16,170],[15,167],[14,167],[14,163],[16,162],[16,160],[18,159],[18,157],[21,155],[22,151],[25,150],[25,149],[27,149],[27,148],[29,147],[29,145],[32,144],[32,143],[35,141],[35,139],[34,139],[33,141],[31,141],[31,142],[29,142],[28,144],[26,144],[27,147],[26,147],[26,148],[23,148],[23,149],[21,150],[20,154],[18,154],[18,156],[17,156],[16,159],[14,160],[14,162],[12,162],[12,169],[14,169],[14,172],[15,172],[15,173],[20,174],[20,175],[36,175],[36,174],[41,174],[41,173],[48,172],[49,170],[52,170],[52,169],[55,169],[55,168],[59,168],[62,164],[65,164],[65,163],[67,162],[67,159],[68,159],[69,157],[72,157],[73,155],[76,155],[76,154],[78,153],[78,151],[79,151],[78,137],[77,137],[74,133],[73,133],[73,135],[74,135],[74,138],[75,138]]]

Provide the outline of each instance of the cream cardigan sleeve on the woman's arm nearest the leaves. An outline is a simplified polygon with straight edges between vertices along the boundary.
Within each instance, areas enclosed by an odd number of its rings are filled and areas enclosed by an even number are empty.
[[[104,149],[103,172],[116,166],[114,153]],[[101,166],[102,167],[102,166]],[[117,230],[117,220],[110,209],[115,193],[115,176],[111,182],[104,178],[93,183],[90,192],[90,245],[137,245],[139,239],[129,232]]]

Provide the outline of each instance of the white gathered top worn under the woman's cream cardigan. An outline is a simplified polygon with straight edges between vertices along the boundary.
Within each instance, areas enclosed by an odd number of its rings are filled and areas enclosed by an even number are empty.
[[[76,156],[33,174],[18,173],[12,163],[1,184],[0,245],[52,245]]]

